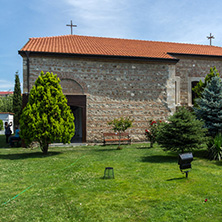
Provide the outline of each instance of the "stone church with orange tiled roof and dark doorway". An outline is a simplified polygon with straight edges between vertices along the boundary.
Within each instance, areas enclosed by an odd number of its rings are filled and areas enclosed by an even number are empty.
[[[72,142],[102,142],[107,122],[134,119],[132,141],[145,139],[149,120],[165,120],[177,106],[192,106],[192,87],[216,67],[222,47],[79,35],[30,38],[23,58],[23,93],[41,71],[61,80],[74,116]]]

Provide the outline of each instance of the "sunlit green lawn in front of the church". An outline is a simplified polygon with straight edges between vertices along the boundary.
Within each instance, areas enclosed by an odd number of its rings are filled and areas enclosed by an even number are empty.
[[[0,221],[222,220],[221,162],[196,151],[186,178],[156,144],[116,147],[1,148]]]

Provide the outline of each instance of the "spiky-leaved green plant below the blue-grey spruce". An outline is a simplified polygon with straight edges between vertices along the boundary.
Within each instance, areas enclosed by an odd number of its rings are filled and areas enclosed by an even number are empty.
[[[222,134],[219,133],[215,136],[208,147],[209,158],[211,160],[221,160],[222,159]]]

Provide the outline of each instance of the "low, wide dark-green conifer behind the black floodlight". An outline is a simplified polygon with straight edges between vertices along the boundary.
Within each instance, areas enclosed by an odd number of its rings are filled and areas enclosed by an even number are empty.
[[[157,142],[164,150],[183,153],[185,150],[201,148],[207,130],[195,115],[185,107],[179,107],[168,121],[161,123],[157,132]]]

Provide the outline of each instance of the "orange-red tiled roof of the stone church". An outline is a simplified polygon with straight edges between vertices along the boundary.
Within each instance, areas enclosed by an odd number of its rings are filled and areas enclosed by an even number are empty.
[[[172,42],[66,35],[30,38],[20,50],[102,56],[174,59],[170,54],[222,56],[222,47]]]

